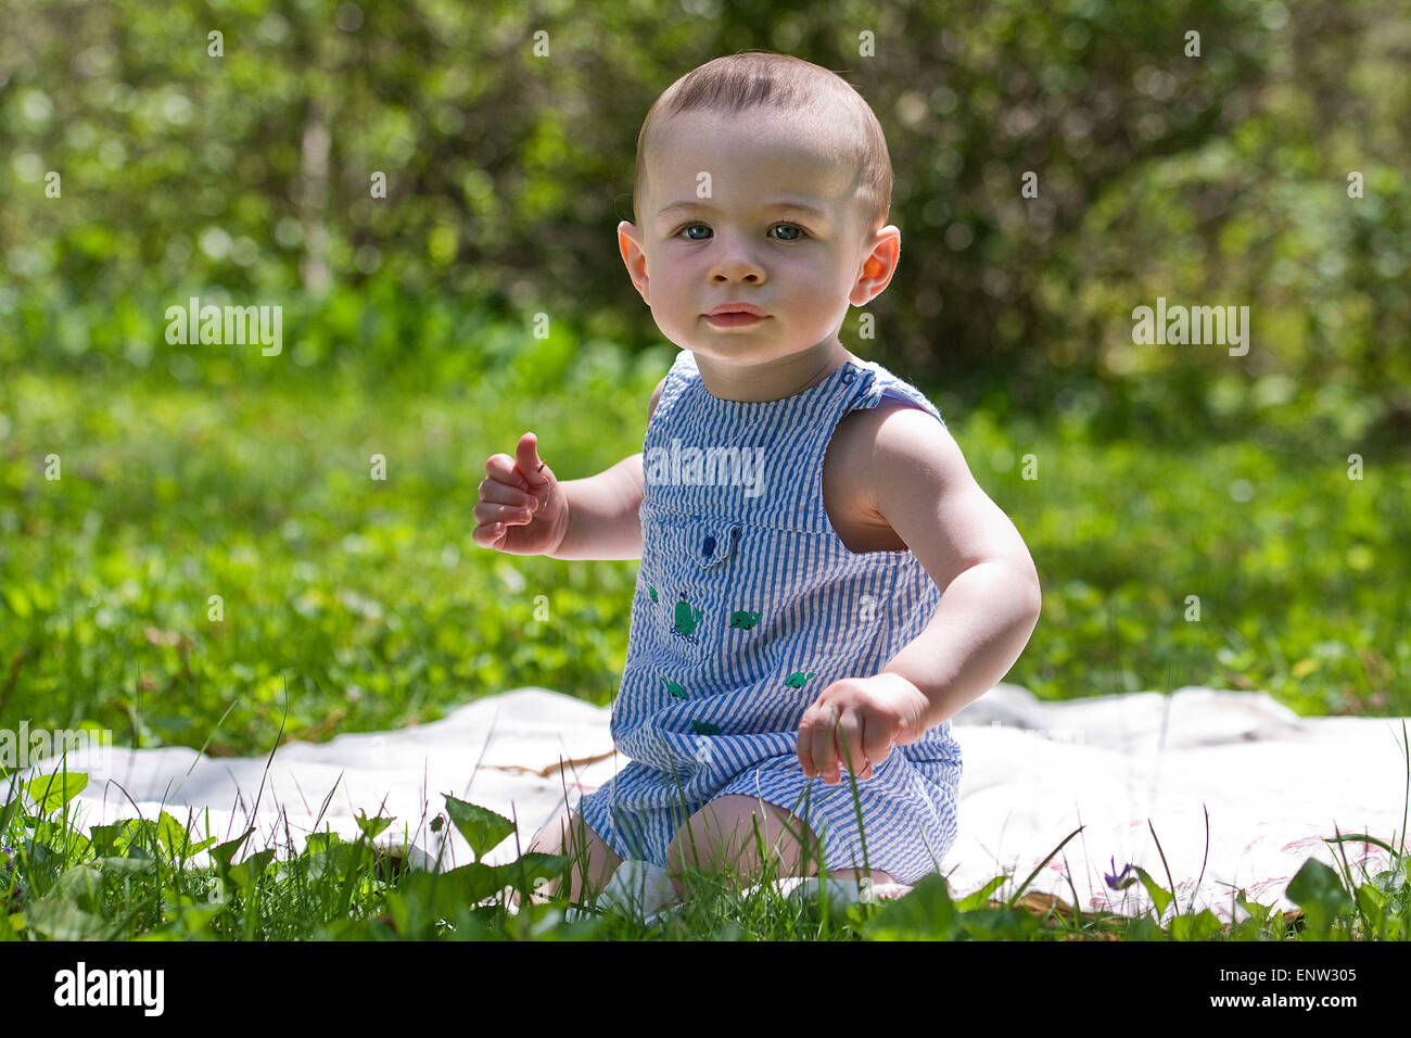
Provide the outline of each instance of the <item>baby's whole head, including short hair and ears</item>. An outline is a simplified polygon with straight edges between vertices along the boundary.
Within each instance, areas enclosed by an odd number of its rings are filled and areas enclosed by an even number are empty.
[[[618,244],[667,339],[725,363],[769,362],[830,350],[848,305],[886,287],[900,251],[890,203],[886,140],[851,85],[799,58],[735,54],[648,112],[636,223],[618,225]],[[732,302],[768,316],[707,319]]]

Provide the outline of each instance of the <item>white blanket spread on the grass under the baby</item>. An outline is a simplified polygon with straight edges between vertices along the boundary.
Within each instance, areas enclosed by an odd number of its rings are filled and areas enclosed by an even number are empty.
[[[75,801],[85,830],[138,812],[157,818],[165,808],[179,822],[195,815],[196,839],[209,832],[229,840],[253,823],[241,857],[267,846],[288,852],[286,832],[296,846],[316,828],[354,839],[354,815],[363,811],[396,818],[377,843],[409,847],[423,867],[466,864],[470,847],[453,825],[430,830],[449,792],[518,822],[518,840],[511,836],[484,859],[498,864],[626,764],[612,747],[610,717],[610,708],[522,688],[429,724],[284,746],[267,777],[267,757],[189,748],[89,748],[71,754],[69,770],[90,775]],[[1400,720],[1298,717],[1267,695],[1204,688],[1048,703],[1000,684],[954,726],[964,754],[959,839],[941,870],[957,897],[1000,873],[1013,881],[996,895],[1012,893],[1081,825],[1029,890],[1065,902],[1077,890],[1084,911],[1139,914],[1150,907],[1141,885],[1113,893],[1103,874],[1133,863],[1165,885],[1150,822],[1181,909],[1194,898],[1195,911],[1211,908],[1228,921],[1236,888],[1250,901],[1292,908],[1284,890],[1308,857],[1333,864],[1346,853],[1359,880],[1359,864],[1371,873],[1386,867],[1386,852],[1371,845],[1336,852],[1324,843],[1335,830],[1393,846],[1404,837]],[[560,761],[569,764],[560,770]],[[54,771],[54,761],[38,770]],[[1209,854],[1197,887],[1202,808]],[[207,861],[205,853],[192,859]],[[1233,909],[1233,918],[1246,914]]]

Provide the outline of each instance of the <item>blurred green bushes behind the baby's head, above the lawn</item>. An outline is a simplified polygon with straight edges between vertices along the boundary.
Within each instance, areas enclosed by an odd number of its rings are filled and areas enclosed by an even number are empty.
[[[471,377],[485,357],[463,343],[483,322],[504,319],[507,353],[522,352],[536,314],[556,335],[659,343],[614,236],[641,120],[690,68],[772,49],[842,73],[888,133],[903,258],[869,308],[875,342],[849,314],[859,353],[1000,411],[1081,410],[1115,435],[1250,435],[1287,414],[1394,448],[1411,442],[1407,14],[1390,0],[708,17],[662,0],[11,3],[0,364],[168,363],[185,347],[166,346],[161,315],[190,295],[284,305],[274,360],[313,369],[435,357]],[[868,32],[876,55],[859,56]],[[1037,198],[1020,195],[1029,171]],[[1158,295],[1249,305],[1249,354],[1134,346],[1132,309]],[[533,353],[560,370],[552,347]]]

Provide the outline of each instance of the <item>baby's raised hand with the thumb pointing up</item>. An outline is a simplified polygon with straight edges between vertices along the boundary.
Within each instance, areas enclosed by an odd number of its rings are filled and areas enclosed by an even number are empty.
[[[539,438],[519,438],[515,458],[491,455],[473,510],[471,539],[511,555],[546,555],[569,528],[569,507],[553,469],[539,459]]]

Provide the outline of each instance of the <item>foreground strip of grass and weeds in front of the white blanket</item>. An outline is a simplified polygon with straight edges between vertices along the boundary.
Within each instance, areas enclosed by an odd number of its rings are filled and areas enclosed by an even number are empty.
[[[1405,727],[1403,726],[1403,740]],[[1403,743],[1405,751],[1405,743]],[[954,897],[944,876],[921,880],[902,898],[835,905],[820,888],[810,898],[782,897],[779,877],[758,826],[755,853],[763,863],[753,876],[703,867],[689,856],[682,870],[687,897],[650,922],[567,898],[531,897],[542,880],[557,877],[567,890],[581,854],[521,853],[514,861],[474,861],[447,871],[423,871],[373,837],[396,819],[358,818],[360,836],[315,833],[302,849],[292,837],[282,847],[241,853],[247,830],[226,843],[192,843],[183,823],[165,811],[155,819],[126,819],[93,826],[83,836],[69,813],[86,775],[61,770],[32,778],[0,806],[0,941],[1407,941],[1411,939],[1411,878],[1407,874],[1405,821],[1400,846],[1370,833],[1326,839],[1338,869],[1308,859],[1287,887],[1298,909],[1283,912],[1235,901],[1246,918],[1222,924],[1206,909],[1184,909],[1158,835],[1151,830],[1167,883],[1133,866],[1118,885],[1144,887],[1150,905],[1139,915],[1084,914],[1077,890],[1071,904],[1046,894],[1024,897],[1040,870],[1081,828],[1060,842],[1029,876],[1002,874]],[[856,781],[849,775],[854,806]],[[1407,794],[1411,797],[1411,751]],[[1408,801],[1404,801],[1404,805]],[[325,804],[326,806],[326,804]],[[444,815],[478,859],[514,833],[514,823],[494,812],[444,798]],[[861,809],[859,818],[861,818]],[[319,815],[322,819],[322,811]],[[317,821],[315,829],[317,829]],[[864,840],[866,826],[864,823]],[[195,829],[193,832],[200,832]],[[518,839],[518,835],[516,835]],[[14,840],[14,846],[10,845]],[[1343,843],[1373,843],[1388,852],[1388,867],[1353,876]],[[186,860],[210,850],[213,867]],[[1338,853],[1342,860],[1338,861]],[[803,860],[823,874],[821,847],[806,842]],[[1204,861],[1202,861],[1204,874]],[[1071,878],[1070,878],[1071,884]],[[752,888],[751,888],[752,887]],[[584,883],[583,901],[597,890]],[[511,911],[514,901],[518,911]]]

